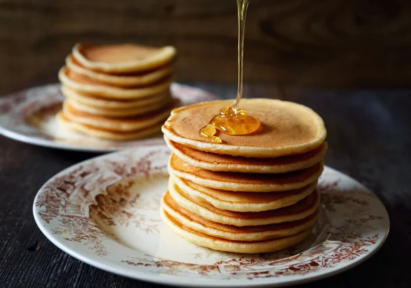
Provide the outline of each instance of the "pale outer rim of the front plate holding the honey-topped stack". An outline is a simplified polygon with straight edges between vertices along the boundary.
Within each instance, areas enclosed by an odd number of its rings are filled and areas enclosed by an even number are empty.
[[[158,147],[157,147],[158,148]],[[145,148],[146,149],[146,148]],[[110,158],[113,157],[116,154],[119,153],[125,153],[127,150],[131,151],[131,150],[135,150],[133,148],[131,149],[126,149],[126,150],[122,150],[116,153],[110,153],[110,154],[105,154],[105,155],[101,155],[99,157],[93,157],[91,159],[79,162],[69,168],[66,168],[64,170],[62,170],[61,172],[59,172],[58,174],[55,174],[54,176],[51,177],[51,179],[55,179],[56,177],[60,177],[60,176],[64,176],[64,174],[66,174],[67,172],[73,170],[76,166],[82,166],[82,165],[86,165],[88,162],[93,162],[93,161],[100,161],[101,159],[104,158]],[[362,183],[359,183],[358,181],[356,181],[355,179],[352,179],[350,176],[348,176],[347,174],[344,174],[342,172],[339,172],[338,170],[334,170],[333,168],[329,168],[326,167],[326,169],[328,169],[331,172],[336,172],[338,174],[341,174],[345,177],[347,177],[347,179],[349,179],[350,181],[355,181],[355,183],[357,183],[359,185],[359,187],[361,187],[362,189],[364,189],[364,191],[366,192],[370,192],[369,189],[367,189]],[[51,181],[51,179],[49,179],[49,181]],[[184,276],[184,275],[166,275],[166,274],[155,274],[155,276],[153,274],[149,274],[146,272],[142,272],[142,271],[135,271],[135,270],[129,270],[129,269],[125,269],[123,267],[116,267],[113,264],[110,263],[105,263],[104,261],[97,261],[95,259],[92,259],[92,256],[90,254],[85,254],[82,251],[77,250],[76,248],[74,248],[73,246],[67,245],[67,243],[64,241],[64,239],[60,239],[59,237],[53,235],[51,233],[51,231],[47,228],[47,224],[45,224],[45,222],[40,218],[40,215],[38,213],[38,208],[36,207],[35,203],[36,200],[38,199],[39,194],[42,192],[42,189],[47,185],[47,183],[49,183],[49,181],[47,181],[44,185],[42,185],[42,187],[40,187],[38,193],[36,194],[36,197],[34,199],[34,204],[33,204],[33,213],[34,213],[34,219],[36,221],[36,224],[38,225],[38,227],[40,228],[40,231],[42,231],[42,233],[47,237],[47,239],[49,239],[55,246],[57,246],[58,248],[60,248],[61,250],[63,250],[64,252],[70,254],[71,256],[73,256],[75,259],[78,259],[79,261],[82,261],[84,263],[87,263],[88,265],[91,265],[93,267],[97,267],[101,270],[104,270],[106,272],[111,272],[120,276],[125,276],[127,278],[134,278],[137,280],[143,280],[143,281],[147,281],[150,283],[158,283],[158,284],[162,284],[162,285],[173,285],[173,286],[179,286],[179,287],[266,287],[266,286],[271,286],[271,287],[286,287],[289,285],[296,285],[296,284],[302,284],[302,283],[308,283],[308,282],[312,282],[314,280],[319,280],[322,278],[327,278],[329,276],[334,276],[336,274],[339,274],[341,272],[345,272],[349,269],[351,269],[352,267],[355,267],[356,265],[359,265],[360,263],[363,263],[364,261],[366,261],[366,259],[369,259],[369,257],[373,256],[373,254],[375,254],[375,252],[377,252],[379,250],[379,248],[382,247],[382,245],[384,244],[384,242],[386,241],[386,238],[388,237],[388,233],[390,231],[390,218],[388,215],[388,211],[386,210],[386,208],[384,207],[384,204],[381,202],[381,200],[379,200],[379,198],[373,194],[373,196],[375,197],[375,201],[379,202],[379,205],[381,205],[381,207],[383,207],[384,211],[381,211],[382,214],[386,215],[386,220],[387,220],[387,229],[384,235],[382,235],[382,237],[379,240],[379,243],[377,244],[377,246],[375,246],[373,248],[373,250],[369,251],[366,254],[362,254],[359,257],[350,260],[349,262],[345,263],[343,267],[327,267],[326,269],[323,269],[321,271],[316,271],[313,272],[313,274],[310,275],[304,275],[304,276],[299,276],[295,279],[290,279],[287,276],[284,277],[280,277],[280,278],[257,278],[256,279],[256,283],[254,284],[253,281],[243,281],[241,283],[238,282],[225,282],[221,279],[206,279],[204,282],[201,281],[195,281],[195,278],[191,278],[193,281],[184,281],[184,278],[188,278],[188,276]],[[384,226],[385,227],[385,226]],[[194,282],[194,283],[193,283]],[[193,284],[190,284],[193,283]]]

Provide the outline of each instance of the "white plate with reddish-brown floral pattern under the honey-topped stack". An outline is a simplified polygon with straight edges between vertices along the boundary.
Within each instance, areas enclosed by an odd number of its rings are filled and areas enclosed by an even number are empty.
[[[282,287],[332,276],[370,257],[388,235],[377,196],[326,167],[319,182],[325,213],[303,243],[254,255],[201,248],[160,221],[168,157],[166,146],[140,147],[64,170],[38,192],[36,223],[53,244],[92,266],[192,287]]]

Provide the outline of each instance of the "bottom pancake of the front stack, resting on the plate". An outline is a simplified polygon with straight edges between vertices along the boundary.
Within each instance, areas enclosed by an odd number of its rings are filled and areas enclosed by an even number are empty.
[[[184,224],[175,220],[170,214],[166,213],[163,209],[160,209],[162,220],[174,231],[177,235],[199,246],[211,248],[218,251],[237,252],[237,253],[264,253],[274,252],[282,250],[284,248],[293,246],[310,235],[311,229],[307,229],[292,235],[289,237],[282,237],[277,239],[265,240],[265,241],[232,241],[227,239],[221,239],[212,237],[203,233],[188,228]]]

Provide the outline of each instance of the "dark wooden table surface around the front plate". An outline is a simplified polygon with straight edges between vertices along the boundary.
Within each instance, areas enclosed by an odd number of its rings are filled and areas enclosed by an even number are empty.
[[[232,86],[203,88],[221,97],[235,94]],[[411,90],[302,92],[252,86],[245,93],[312,107],[327,125],[327,165],[364,183],[390,213],[390,235],[371,259],[301,287],[410,287]],[[0,287],[158,287],[74,259],[51,244],[34,222],[32,203],[40,186],[93,156],[0,137]]]

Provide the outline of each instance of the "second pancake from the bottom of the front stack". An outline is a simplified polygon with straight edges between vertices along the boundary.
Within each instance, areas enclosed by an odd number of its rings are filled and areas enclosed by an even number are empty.
[[[162,197],[161,207],[166,213],[177,220],[177,222],[194,231],[234,241],[263,241],[295,235],[311,228],[319,218],[320,214],[320,210],[317,209],[307,218],[298,221],[262,226],[238,227],[205,220],[195,213],[179,207],[169,194],[164,194]]]

